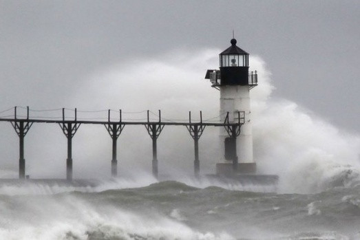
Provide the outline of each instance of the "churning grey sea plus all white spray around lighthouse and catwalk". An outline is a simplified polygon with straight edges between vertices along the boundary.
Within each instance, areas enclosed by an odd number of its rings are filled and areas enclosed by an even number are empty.
[[[171,52],[104,69],[66,103],[85,110],[162,109],[171,120],[202,110],[215,121],[218,92],[202,79],[218,65],[214,52],[220,50]],[[251,90],[254,158],[258,173],[279,176],[276,186],[187,177],[193,144],[186,129],[175,128],[165,128],[158,141],[160,174],[173,179],[158,181],[144,171],[151,166],[149,136],[128,126],[118,146],[122,177],[100,180],[109,176],[111,142],[105,129],[82,126],[73,141],[74,177],[98,179],[0,181],[0,240],[360,239],[359,134],[273,99],[266,63],[250,60],[259,72],[259,86]],[[31,178],[64,177],[65,138],[56,127],[34,125],[25,138]],[[17,139],[12,129],[1,125],[1,131],[0,178],[16,178]],[[207,128],[200,139],[202,174],[213,173],[219,160],[217,135]]]

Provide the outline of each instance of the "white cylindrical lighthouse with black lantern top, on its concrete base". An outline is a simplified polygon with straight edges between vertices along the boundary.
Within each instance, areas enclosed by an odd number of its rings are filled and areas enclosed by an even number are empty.
[[[212,87],[220,90],[220,120],[229,123],[242,120],[240,133],[235,138],[226,128],[220,130],[222,154],[216,164],[216,174],[251,174],[256,171],[256,163],[253,159],[250,90],[257,86],[257,72],[249,72],[249,54],[237,47],[236,39],[231,39],[230,43],[231,46],[219,54],[220,70],[207,70],[205,76]]]

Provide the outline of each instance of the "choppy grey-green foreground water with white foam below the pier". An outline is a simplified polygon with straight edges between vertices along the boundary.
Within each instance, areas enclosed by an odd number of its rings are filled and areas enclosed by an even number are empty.
[[[356,184],[316,194],[191,185],[2,184],[0,239],[360,239]]]

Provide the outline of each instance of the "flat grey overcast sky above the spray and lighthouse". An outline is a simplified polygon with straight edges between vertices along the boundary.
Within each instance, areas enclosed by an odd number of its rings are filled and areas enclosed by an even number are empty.
[[[359,20],[357,0],[0,0],[0,110],[66,107],[96,69],[179,50],[225,50],[235,30],[237,45],[272,72],[273,98],[360,133]]]

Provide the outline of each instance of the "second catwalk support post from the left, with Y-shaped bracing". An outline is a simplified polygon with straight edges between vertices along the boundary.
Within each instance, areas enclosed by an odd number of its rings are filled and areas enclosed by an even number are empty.
[[[72,181],[72,137],[80,127],[81,123],[76,122],[76,109],[75,121],[65,122],[65,114],[63,109],[63,122],[59,123],[63,133],[67,138],[67,159],[66,159],[66,179]]]

